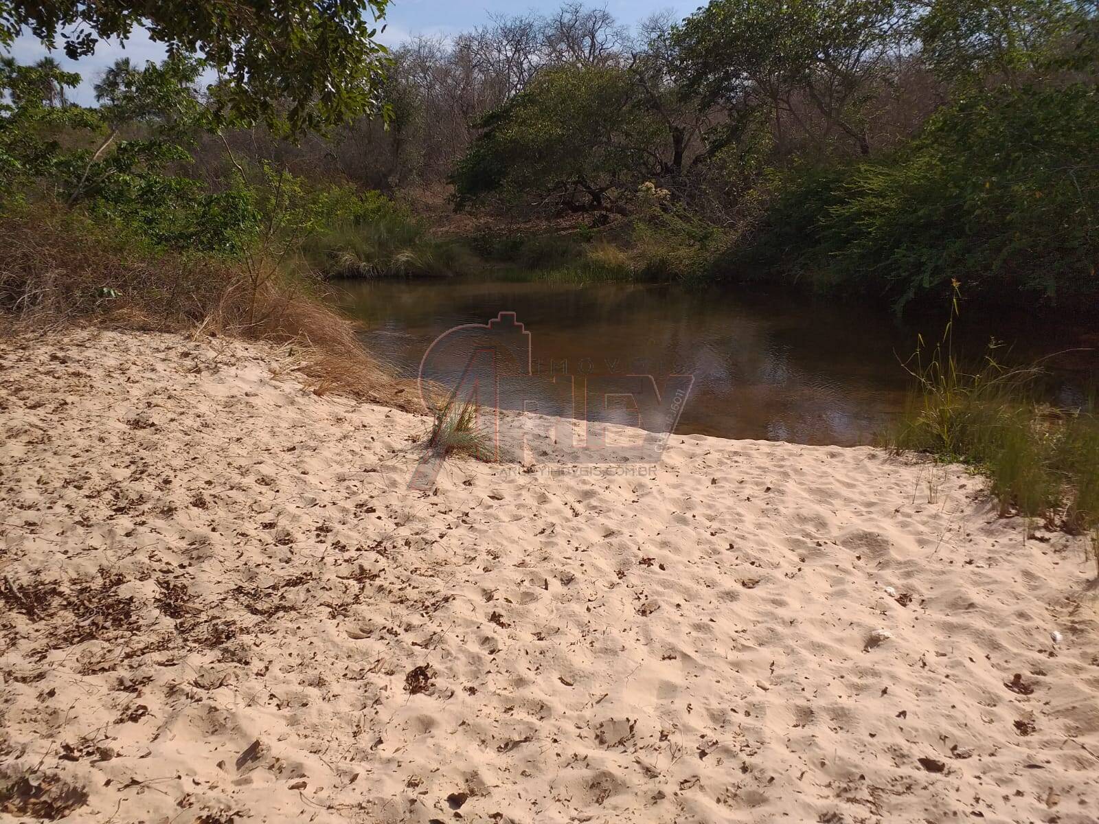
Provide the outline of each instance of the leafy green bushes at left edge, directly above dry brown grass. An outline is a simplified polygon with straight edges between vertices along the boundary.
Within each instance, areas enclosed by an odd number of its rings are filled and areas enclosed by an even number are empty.
[[[207,124],[192,86],[200,65],[174,57],[134,68],[119,62],[97,85],[101,105],[60,105],[77,75],[9,62],[0,85],[0,187],[9,197],[45,189],[154,246],[236,253],[259,219],[240,191],[210,192],[166,174],[190,163],[191,134]],[[134,136],[121,138],[126,132]]]

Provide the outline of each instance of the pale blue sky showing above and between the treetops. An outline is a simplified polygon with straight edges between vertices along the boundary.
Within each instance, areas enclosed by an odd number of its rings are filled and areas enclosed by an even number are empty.
[[[396,46],[415,34],[444,36],[456,34],[488,22],[492,14],[515,14],[526,11],[545,13],[556,10],[560,4],[558,0],[535,0],[528,4],[509,2],[508,0],[477,0],[477,2],[466,2],[465,0],[391,0],[389,11],[386,14],[386,31],[378,40],[387,46]],[[607,0],[606,2],[587,3],[589,7],[606,8],[619,21],[626,24],[636,23],[654,12],[665,10],[673,12],[677,18],[684,18],[699,5],[704,4],[704,0]],[[37,40],[24,35],[16,38],[12,54],[20,63],[33,63],[47,52]],[[66,59],[59,49],[54,52],[54,57],[60,60],[67,69],[78,71],[84,77],[84,82],[76,89],[73,98],[85,104],[92,102],[91,83],[107,66],[118,57],[123,56],[141,64],[145,60],[159,60],[164,57],[164,49],[159,45],[151,43],[143,32],[134,32],[124,49],[118,43],[104,42],[99,45],[95,55],[76,63]]]

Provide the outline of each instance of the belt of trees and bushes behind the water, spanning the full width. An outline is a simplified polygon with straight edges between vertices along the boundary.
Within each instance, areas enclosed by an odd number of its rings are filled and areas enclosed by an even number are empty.
[[[897,310],[956,278],[988,307],[1099,302],[1094,3],[713,0],[632,30],[566,3],[391,53],[348,13],[362,62],[324,41],[326,79],[168,14],[144,24],[173,58],[120,60],[95,105],[56,60],[5,58],[4,211],[52,200],[188,254],[277,241],[284,270],[329,277],[736,279]],[[4,14],[8,42],[35,23]],[[235,25],[254,46],[263,23]]]

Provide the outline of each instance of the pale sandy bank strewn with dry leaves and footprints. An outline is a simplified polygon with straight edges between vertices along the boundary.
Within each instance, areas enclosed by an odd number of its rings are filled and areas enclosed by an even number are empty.
[[[0,349],[2,821],[1097,821],[1094,565],[962,470],[674,437],[412,493],[426,419],[267,349]]]

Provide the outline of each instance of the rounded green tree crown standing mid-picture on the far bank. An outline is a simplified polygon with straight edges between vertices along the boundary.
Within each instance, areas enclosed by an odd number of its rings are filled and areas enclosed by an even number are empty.
[[[534,193],[607,205],[615,189],[659,166],[664,134],[630,73],[613,66],[544,69],[480,126],[452,177],[459,208]]]

